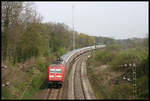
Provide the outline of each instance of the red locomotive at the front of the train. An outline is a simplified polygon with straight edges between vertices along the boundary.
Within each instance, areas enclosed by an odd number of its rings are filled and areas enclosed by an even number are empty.
[[[64,83],[64,66],[60,61],[56,61],[48,67],[49,87],[61,88]]]

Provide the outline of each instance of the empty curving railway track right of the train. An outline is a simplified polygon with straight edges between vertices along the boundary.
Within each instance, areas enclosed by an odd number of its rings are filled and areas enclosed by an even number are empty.
[[[85,69],[87,55],[88,53],[79,56],[72,66],[68,83],[68,99],[95,99]]]

